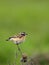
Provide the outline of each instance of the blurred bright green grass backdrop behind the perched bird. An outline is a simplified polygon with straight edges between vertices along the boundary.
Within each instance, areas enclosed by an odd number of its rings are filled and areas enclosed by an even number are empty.
[[[0,65],[11,64],[18,53],[12,42],[5,40],[14,34],[25,31],[28,33],[22,52],[31,56],[33,53],[49,52],[49,1],[1,1],[0,2]]]

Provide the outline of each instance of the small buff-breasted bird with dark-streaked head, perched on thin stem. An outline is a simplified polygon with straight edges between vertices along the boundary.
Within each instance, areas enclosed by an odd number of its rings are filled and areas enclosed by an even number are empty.
[[[9,37],[6,41],[13,41],[14,44],[18,45],[25,40],[26,35],[28,35],[26,32],[20,32],[17,35]]]

